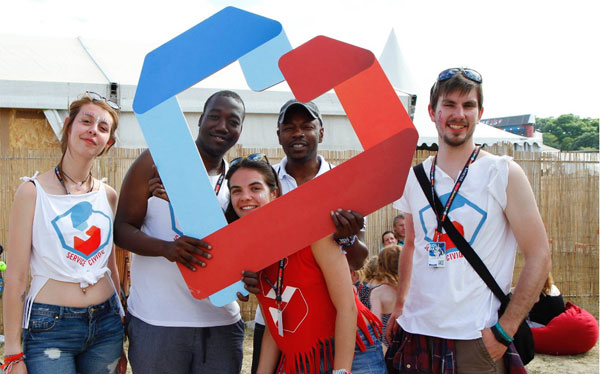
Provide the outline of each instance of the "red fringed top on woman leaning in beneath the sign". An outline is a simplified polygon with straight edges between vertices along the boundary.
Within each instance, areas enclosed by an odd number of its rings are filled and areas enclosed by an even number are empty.
[[[283,336],[278,333],[276,293],[272,287],[277,285],[278,271],[279,262],[260,273],[260,292],[256,295],[269,331],[281,350],[277,373],[292,374],[301,369],[307,374],[318,373],[321,367],[321,350],[325,358],[324,368],[331,369],[336,309],[310,246],[287,257],[284,262],[281,295]],[[358,310],[356,347],[364,351],[366,347],[358,330],[364,333],[369,344],[374,344],[367,324],[372,326],[379,337],[382,334],[381,321],[359,301],[356,293],[354,299]],[[309,370],[306,370],[307,366]]]

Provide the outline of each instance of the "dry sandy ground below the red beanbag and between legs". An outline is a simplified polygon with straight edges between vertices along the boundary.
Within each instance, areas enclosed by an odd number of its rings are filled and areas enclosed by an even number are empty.
[[[242,363],[242,374],[250,374],[252,364],[252,337],[253,330],[246,329],[244,339],[244,362]],[[0,353],[4,354],[4,344],[0,347]],[[593,374],[599,373],[598,343],[591,351],[574,356],[550,356],[536,354],[533,361],[527,365],[529,374]],[[127,370],[131,374],[131,368]]]

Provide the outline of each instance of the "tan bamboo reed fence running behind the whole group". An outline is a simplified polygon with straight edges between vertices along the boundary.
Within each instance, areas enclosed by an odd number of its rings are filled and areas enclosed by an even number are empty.
[[[546,225],[552,256],[552,274],[565,299],[598,318],[598,154],[516,152],[511,145],[488,147],[494,154],[508,154],[521,165],[533,187],[542,219]],[[227,159],[255,152],[267,154],[271,163],[284,156],[281,149],[234,147]],[[129,166],[141,150],[112,149],[96,162],[93,174],[106,177],[119,192]],[[340,164],[358,154],[356,151],[323,151],[323,157]],[[431,155],[418,150],[413,164]],[[11,150],[0,155],[0,243],[6,244],[8,216],[20,177],[36,170],[53,168],[60,159],[57,150]],[[393,167],[393,165],[390,165]],[[385,181],[382,181],[385,183]],[[366,244],[370,254],[377,254],[381,233],[392,228],[398,211],[389,204],[367,217]],[[5,259],[5,254],[1,256]],[[128,253],[117,249],[119,272],[127,271]],[[10,266],[10,264],[8,264]],[[519,254],[515,280],[523,266]],[[127,289],[127,287],[126,287]],[[241,303],[245,320],[253,318],[256,300]]]

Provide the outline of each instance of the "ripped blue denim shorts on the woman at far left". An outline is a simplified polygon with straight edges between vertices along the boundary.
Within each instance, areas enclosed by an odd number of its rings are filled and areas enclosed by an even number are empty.
[[[33,303],[23,330],[29,374],[116,373],[123,324],[116,294],[85,308]]]

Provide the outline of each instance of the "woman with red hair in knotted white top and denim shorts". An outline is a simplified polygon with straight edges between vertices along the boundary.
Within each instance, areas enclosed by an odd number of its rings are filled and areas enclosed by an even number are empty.
[[[73,101],[56,167],[17,189],[4,290],[5,373],[125,373],[112,236],[117,193],[92,175],[96,158],[115,143],[119,109],[93,92]]]

